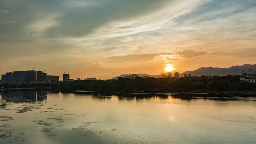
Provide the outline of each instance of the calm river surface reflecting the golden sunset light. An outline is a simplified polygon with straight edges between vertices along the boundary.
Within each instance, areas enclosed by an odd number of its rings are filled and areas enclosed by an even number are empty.
[[[5,90],[0,101],[0,144],[256,144],[256,98]]]

